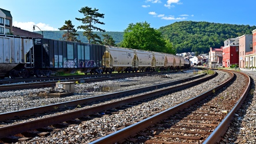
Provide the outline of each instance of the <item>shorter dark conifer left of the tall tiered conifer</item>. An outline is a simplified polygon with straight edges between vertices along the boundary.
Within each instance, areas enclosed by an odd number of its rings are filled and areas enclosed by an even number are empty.
[[[70,20],[65,21],[65,25],[59,28],[59,30],[65,31],[62,35],[63,40],[80,42],[80,40],[78,40],[76,37],[79,36],[79,34],[77,33],[77,30],[74,29],[74,25],[72,25],[72,22]]]

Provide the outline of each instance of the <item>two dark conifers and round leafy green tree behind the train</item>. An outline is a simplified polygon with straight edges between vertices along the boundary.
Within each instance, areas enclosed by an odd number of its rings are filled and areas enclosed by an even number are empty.
[[[150,24],[146,21],[129,24],[128,28],[123,32],[123,40],[118,45],[115,44],[113,37],[108,34],[103,33],[103,40],[101,40],[101,37],[97,35],[95,31],[106,31],[95,26],[96,24],[104,25],[104,22],[99,20],[99,18],[104,18],[104,14],[99,13],[98,11],[99,9],[92,9],[92,7],[88,6],[82,7],[78,10],[78,12],[84,14],[84,17],[76,18],[76,20],[82,22],[82,25],[77,26],[77,29],[84,30],[82,34],[86,37],[88,43],[166,52],[170,54],[176,53],[173,44],[171,44],[167,39],[164,39],[159,31],[150,28]],[[62,40],[81,42],[81,40],[77,39],[77,37],[80,36],[77,33],[77,29],[74,28],[74,25],[70,20],[66,20],[65,25],[59,28],[60,31],[64,31]]]

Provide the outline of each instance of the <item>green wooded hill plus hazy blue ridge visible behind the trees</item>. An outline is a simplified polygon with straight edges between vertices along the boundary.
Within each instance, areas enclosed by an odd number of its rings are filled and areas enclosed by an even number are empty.
[[[208,53],[209,48],[220,48],[224,46],[224,40],[235,38],[242,35],[252,35],[256,26],[219,24],[214,22],[195,22],[180,21],[163,26],[158,30],[163,33],[164,39],[169,39],[174,44],[177,53],[198,52],[199,54]],[[41,33],[41,32],[37,32]],[[77,32],[78,40],[88,43],[82,31]],[[99,36],[103,32],[95,32]],[[123,32],[104,32],[113,37],[118,44],[123,40]],[[63,31],[44,31],[44,38],[60,40]],[[101,36],[101,40],[103,37]]]

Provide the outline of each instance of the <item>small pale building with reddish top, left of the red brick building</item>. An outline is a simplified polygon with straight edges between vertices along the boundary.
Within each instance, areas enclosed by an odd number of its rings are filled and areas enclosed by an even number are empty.
[[[212,48],[210,47],[209,51],[209,67],[217,68],[217,66],[222,66],[223,60],[223,47],[221,48]]]

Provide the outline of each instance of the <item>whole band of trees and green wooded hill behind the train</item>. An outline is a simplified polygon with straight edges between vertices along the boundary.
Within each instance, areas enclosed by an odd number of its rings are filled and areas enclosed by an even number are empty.
[[[159,29],[150,28],[148,22],[131,23],[122,32],[115,32],[109,35],[97,25],[104,25],[99,18],[103,19],[104,14],[98,12],[99,9],[92,7],[82,7],[78,12],[84,15],[83,18],[76,18],[82,25],[77,29],[83,30],[82,36],[86,37],[88,43],[103,44],[108,46],[119,46],[165,52],[176,54],[181,52],[196,52],[204,54],[209,52],[209,48],[220,48],[224,45],[224,40],[242,35],[251,35],[256,26],[218,24],[214,22],[180,21],[163,26]],[[77,32],[70,20],[65,21],[59,30],[63,32],[62,40],[85,41],[81,32]],[[118,43],[113,39],[117,39]],[[120,38],[121,37],[121,38]]]

